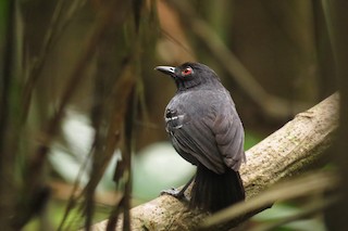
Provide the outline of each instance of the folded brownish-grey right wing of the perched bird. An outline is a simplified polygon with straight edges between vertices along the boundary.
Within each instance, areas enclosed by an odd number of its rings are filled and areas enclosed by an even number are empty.
[[[244,128],[234,107],[227,114],[217,114],[212,126],[224,163],[235,171],[246,161],[244,152]]]

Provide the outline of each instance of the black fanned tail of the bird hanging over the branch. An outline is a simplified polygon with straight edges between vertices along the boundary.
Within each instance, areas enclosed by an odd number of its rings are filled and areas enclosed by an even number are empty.
[[[197,166],[191,190],[191,208],[216,211],[245,200],[245,190],[238,171],[226,169],[222,175]]]

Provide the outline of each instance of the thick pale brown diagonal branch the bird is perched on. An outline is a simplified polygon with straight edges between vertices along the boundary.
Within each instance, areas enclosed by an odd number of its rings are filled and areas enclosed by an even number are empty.
[[[270,185],[299,175],[323,162],[338,126],[338,93],[300,113],[279,130],[247,151],[240,169],[247,200]],[[194,230],[207,213],[189,210],[185,202],[162,195],[130,210],[132,230]],[[104,230],[108,220],[92,227]],[[121,222],[119,222],[121,223]],[[122,230],[119,226],[116,230]]]

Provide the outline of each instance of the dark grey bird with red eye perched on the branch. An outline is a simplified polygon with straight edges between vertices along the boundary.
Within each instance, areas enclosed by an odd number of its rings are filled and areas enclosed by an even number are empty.
[[[156,69],[170,75],[177,87],[164,112],[165,130],[176,152],[197,166],[181,191],[163,192],[184,197],[194,180],[189,207],[212,213],[244,201],[238,172],[246,161],[244,128],[229,92],[214,70],[200,63]]]

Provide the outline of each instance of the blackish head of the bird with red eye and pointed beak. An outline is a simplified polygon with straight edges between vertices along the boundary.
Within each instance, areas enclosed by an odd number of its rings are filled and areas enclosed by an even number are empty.
[[[220,79],[214,70],[201,63],[184,63],[179,66],[157,66],[154,69],[170,75],[176,84],[177,90],[183,91],[194,87],[214,87]]]

